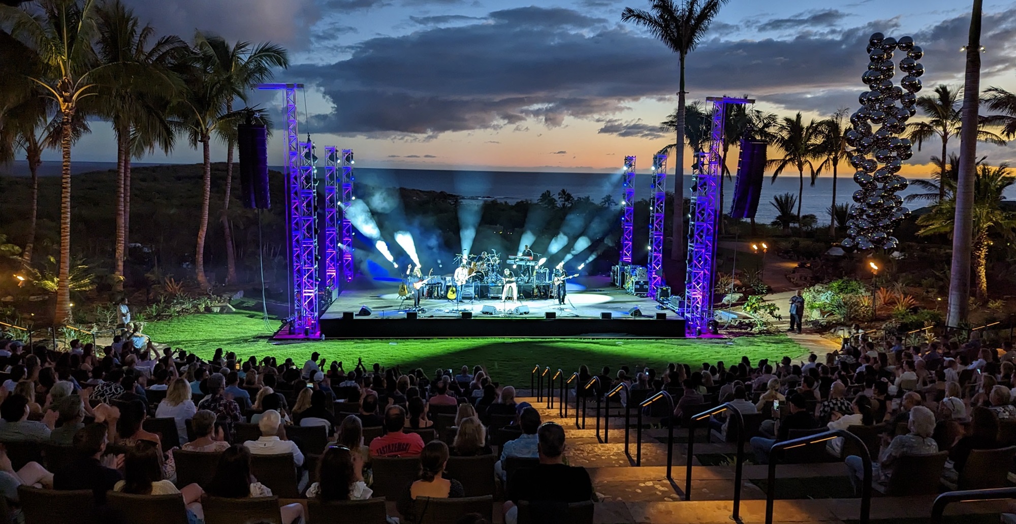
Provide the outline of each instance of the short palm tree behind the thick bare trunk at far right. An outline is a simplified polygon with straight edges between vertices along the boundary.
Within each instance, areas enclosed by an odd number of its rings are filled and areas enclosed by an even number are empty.
[[[1010,175],[1009,165],[1002,163],[998,168],[981,165],[977,169],[974,181],[974,202],[972,213],[972,258],[970,260],[973,272],[974,286],[977,299],[988,297],[988,277],[986,262],[994,238],[1012,239],[1013,227],[1016,227],[1016,215],[1004,211],[999,205],[1005,199],[1003,193],[1016,184],[1016,176]],[[953,219],[956,214],[956,183],[948,181],[949,195],[946,200],[936,204],[932,211],[917,218],[917,224],[924,227],[917,235],[952,234]]]

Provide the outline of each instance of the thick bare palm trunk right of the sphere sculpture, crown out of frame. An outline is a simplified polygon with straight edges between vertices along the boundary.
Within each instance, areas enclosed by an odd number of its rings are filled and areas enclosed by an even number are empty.
[[[973,237],[973,185],[976,179],[977,93],[980,92],[980,10],[982,0],[973,0],[970,39],[966,48],[966,81],[963,85],[963,120],[960,128],[959,180],[956,182],[956,214],[953,223],[952,271],[949,279],[947,326],[966,321],[970,296],[970,251]],[[944,158],[943,158],[944,160]]]

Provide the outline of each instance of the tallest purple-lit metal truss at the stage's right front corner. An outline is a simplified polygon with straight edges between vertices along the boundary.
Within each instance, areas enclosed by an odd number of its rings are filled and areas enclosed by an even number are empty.
[[[719,177],[722,174],[723,124],[728,104],[751,104],[746,99],[710,96],[712,133],[705,169],[692,175],[691,218],[688,223],[688,280],[683,309],[687,332],[699,335],[712,320],[712,292],[719,220]],[[680,184],[681,181],[678,181]]]

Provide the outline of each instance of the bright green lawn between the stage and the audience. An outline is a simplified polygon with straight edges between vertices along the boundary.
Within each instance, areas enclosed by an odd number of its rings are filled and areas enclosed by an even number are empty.
[[[519,385],[528,384],[529,371],[537,364],[568,372],[582,364],[595,369],[610,366],[617,370],[627,365],[633,370],[642,366],[659,370],[670,362],[697,367],[704,362],[734,364],[745,354],[755,363],[785,354],[797,359],[805,353],[784,335],[733,340],[448,338],[272,342],[269,337],[277,325],[277,321],[265,325],[259,314],[238,312],[152,322],[145,326],[144,332],[155,342],[194,351],[203,357],[210,357],[216,347],[223,347],[242,357],[271,354],[279,361],[292,357],[303,363],[312,351],[318,351],[329,362],[348,363],[346,369],[362,356],[368,366],[379,363],[386,367],[401,365],[403,369],[420,367],[428,374],[437,368],[481,364],[496,380]]]

